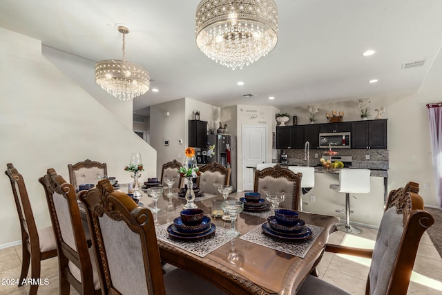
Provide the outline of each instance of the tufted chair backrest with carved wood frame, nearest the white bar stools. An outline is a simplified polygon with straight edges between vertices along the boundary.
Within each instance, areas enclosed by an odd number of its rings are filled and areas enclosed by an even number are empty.
[[[274,167],[255,171],[253,191],[265,198],[267,192],[284,193],[285,200],[280,207],[292,210],[300,209],[301,173],[294,173],[279,164]]]

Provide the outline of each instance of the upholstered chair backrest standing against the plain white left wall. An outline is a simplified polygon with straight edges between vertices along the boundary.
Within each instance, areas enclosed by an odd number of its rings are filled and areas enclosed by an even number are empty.
[[[79,184],[96,184],[98,178],[108,175],[108,166],[106,163],[91,161],[89,159],[77,164],[68,164],[69,182],[78,189]]]

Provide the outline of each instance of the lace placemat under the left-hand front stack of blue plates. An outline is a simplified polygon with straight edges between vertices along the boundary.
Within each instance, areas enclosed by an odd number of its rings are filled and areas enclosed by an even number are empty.
[[[213,236],[202,238],[202,240],[177,240],[170,238],[169,234],[167,234],[167,227],[169,227],[169,225],[172,223],[173,222],[169,222],[155,228],[157,239],[200,257],[206,256],[211,251],[215,251],[233,238],[236,238],[236,236],[229,234],[229,229],[224,229],[224,227],[216,227],[215,234],[213,234]]]

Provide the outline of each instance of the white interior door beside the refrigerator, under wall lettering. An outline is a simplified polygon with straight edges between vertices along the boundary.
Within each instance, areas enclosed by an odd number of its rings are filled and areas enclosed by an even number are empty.
[[[242,126],[242,190],[253,191],[255,169],[267,162],[267,126]]]

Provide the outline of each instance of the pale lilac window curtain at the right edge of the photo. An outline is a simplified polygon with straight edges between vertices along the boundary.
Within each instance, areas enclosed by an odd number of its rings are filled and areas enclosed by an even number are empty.
[[[431,153],[436,184],[436,201],[442,209],[442,102],[427,104]]]

